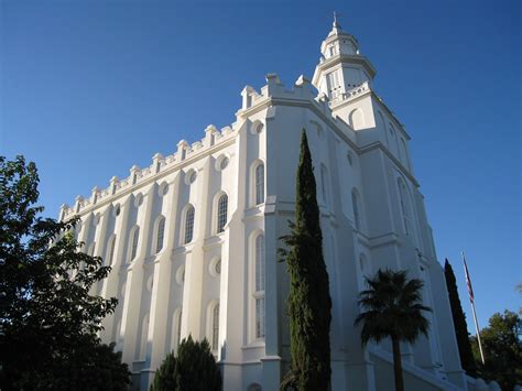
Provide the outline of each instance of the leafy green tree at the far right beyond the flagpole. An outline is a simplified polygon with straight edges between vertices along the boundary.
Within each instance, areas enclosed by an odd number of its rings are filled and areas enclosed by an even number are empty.
[[[496,380],[502,390],[512,390],[522,384],[522,329],[521,318],[511,311],[496,313],[489,318],[489,326],[480,332],[485,365],[476,337],[471,346],[477,361],[478,374],[486,380]]]

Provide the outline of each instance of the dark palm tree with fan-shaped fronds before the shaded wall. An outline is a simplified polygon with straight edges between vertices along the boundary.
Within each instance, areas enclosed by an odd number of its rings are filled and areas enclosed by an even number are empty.
[[[373,278],[366,278],[368,290],[359,293],[359,304],[367,309],[355,325],[362,324],[361,341],[379,343],[391,337],[393,348],[393,371],[395,390],[403,391],[401,341],[414,343],[420,334],[427,336],[429,322],[423,311],[432,308],[422,305],[424,283],[407,279],[406,271],[380,270]]]

